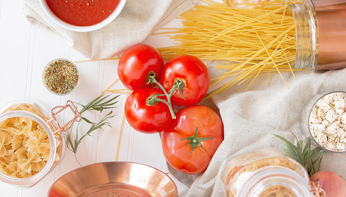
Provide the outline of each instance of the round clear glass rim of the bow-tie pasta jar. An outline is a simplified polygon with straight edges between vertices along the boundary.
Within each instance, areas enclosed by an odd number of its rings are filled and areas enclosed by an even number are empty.
[[[19,110],[9,111],[0,115],[0,122],[7,120],[9,118],[14,118],[14,117],[26,117],[36,121],[38,124],[40,124],[43,127],[44,131],[46,132],[49,138],[49,145],[50,145],[49,158],[47,160],[47,163],[38,173],[27,178],[12,178],[0,173],[0,181],[2,181],[3,183],[8,184],[10,186],[15,186],[16,188],[27,188],[29,185],[32,186],[33,183],[37,183],[38,181],[43,179],[43,177],[50,171],[50,168],[52,167],[55,161],[55,152],[56,152],[57,146],[56,146],[56,141],[55,141],[55,136],[53,134],[53,131],[40,116],[28,111],[19,111]]]

